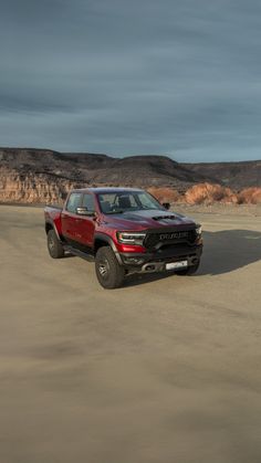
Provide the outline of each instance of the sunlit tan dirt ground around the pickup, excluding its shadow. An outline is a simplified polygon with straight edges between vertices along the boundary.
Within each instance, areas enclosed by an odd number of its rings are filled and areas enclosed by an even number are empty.
[[[196,276],[105,291],[0,207],[1,463],[260,463],[261,218],[194,217]]]

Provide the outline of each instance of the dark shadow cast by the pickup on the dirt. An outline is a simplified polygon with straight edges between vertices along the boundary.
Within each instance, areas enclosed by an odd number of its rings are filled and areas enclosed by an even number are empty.
[[[222,230],[203,232],[203,254],[195,277],[221,275],[233,272],[261,259],[261,232],[251,230]],[[170,273],[154,273],[129,276],[126,286],[149,283],[173,276]]]

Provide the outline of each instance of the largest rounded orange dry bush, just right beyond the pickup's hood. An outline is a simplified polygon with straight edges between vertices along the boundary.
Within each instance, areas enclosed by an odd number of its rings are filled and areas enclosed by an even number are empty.
[[[230,188],[221,185],[199,183],[189,188],[185,193],[188,204],[211,204],[213,202],[238,202],[237,194]]]

